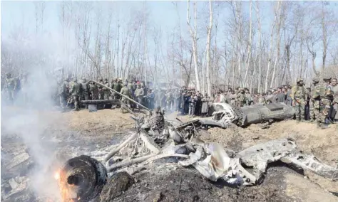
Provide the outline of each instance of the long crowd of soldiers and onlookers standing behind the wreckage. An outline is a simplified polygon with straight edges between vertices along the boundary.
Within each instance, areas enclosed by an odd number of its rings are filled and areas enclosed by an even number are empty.
[[[6,74],[4,90],[8,93],[9,100],[14,100],[20,85],[10,73]],[[188,87],[150,89],[145,83],[133,79],[123,82],[116,78],[109,83],[108,79],[103,78],[99,78],[97,82],[88,82],[86,78],[82,78],[78,83],[77,78],[66,78],[58,81],[56,97],[62,109],[72,105],[73,110],[79,110],[84,107],[80,105],[80,100],[121,100],[129,108],[140,110],[139,105],[130,102],[131,99],[151,110],[161,107],[167,112],[180,112],[190,117],[208,116],[213,102],[224,102],[237,107],[283,102],[295,107],[295,118],[299,122],[317,121],[319,127],[326,127],[338,119],[337,78],[313,78],[310,87],[305,87],[302,78],[298,78],[297,85],[293,87],[284,85],[256,94],[251,94],[247,87],[228,87],[226,91],[218,90],[212,95],[203,95]]]

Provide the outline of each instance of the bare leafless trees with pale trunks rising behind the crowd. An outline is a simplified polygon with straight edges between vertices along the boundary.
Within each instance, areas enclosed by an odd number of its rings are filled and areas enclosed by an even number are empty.
[[[23,25],[1,35],[1,75],[48,67],[78,79],[176,80],[209,95],[220,86],[265,92],[298,77],[309,85],[314,76],[338,76],[334,1],[174,1],[178,21],[170,32],[153,23],[148,2],[126,11],[128,18],[108,3],[58,2],[60,38],[48,43],[48,2],[32,2],[34,33]],[[53,52],[55,44],[61,51]]]

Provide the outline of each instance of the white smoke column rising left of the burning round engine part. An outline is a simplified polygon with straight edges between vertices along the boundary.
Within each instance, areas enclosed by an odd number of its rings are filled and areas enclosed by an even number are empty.
[[[16,95],[14,105],[6,100],[6,93],[1,92],[1,134],[19,136],[28,147],[34,160],[34,171],[29,177],[35,195],[58,198],[60,193],[53,179],[53,171],[57,169],[54,166],[56,144],[50,141],[52,135],[48,134],[57,121],[51,112],[58,100],[58,78],[53,74],[57,62],[51,59],[56,52],[46,46],[39,47],[39,44],[31,47],[6,43],[8,54],[16,55],[19,52],[17,60],[10,63],[12,75],[15,77],[19,74],[13,68],[19,62],[25,67],[20,67],[21,72],[28,75],[27,82],[22,80],[21,92]]]

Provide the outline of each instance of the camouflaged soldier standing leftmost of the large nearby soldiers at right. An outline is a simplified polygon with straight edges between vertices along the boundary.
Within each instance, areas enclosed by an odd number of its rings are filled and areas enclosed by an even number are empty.
[[[297,78],[297,85],[292,87],[292,106],[295,107],[297,122],[305,120],[305,105],[307,104],[307,89],[304,87],[303,79]]]

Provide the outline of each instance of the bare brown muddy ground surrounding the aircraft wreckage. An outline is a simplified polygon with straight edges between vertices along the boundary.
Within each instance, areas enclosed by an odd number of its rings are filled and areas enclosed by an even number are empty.
[[[37,113],[42,119],[51,119],[51,123],[40,137],[45,146],[53,148],[51,159],[57,162],[49,165],[46,175],[50,176],[53,175],[58,165],[73,156],[118,144],[134,124],[133,119],[130,119],[130,114],[122,114],[120,110]],[[3,118],[2,115],[1,118]],[[188,120],[188,117],[180,117],[180,119]],[[2,129],[1,123],[1,131]],[[234,151],[240,151],[254,144],[282,137],[294,138],[299,149],[314,154],[326,164],[336,166],[338,124],[331,125],[329,129],[324,130],[317,129],[315,124],[297,124],[294,121],[273,123],[268,129],[262,129],[255,124],[245,129],[240,127],[212,128],[208,130],[208,133],[204,132],[200,138],[208,142],[218,142]],[[15,174],[19,173],[19,176],[34,181],[29,172],[32,167],[34,168],[32,166],[34,157],[29,153],[29,147],[26,147],[20,139],[15,134],[1,134],[1,199],[14,190],[9,186],[9,180]],[[25,164],[14,166],[12,171],[3,167],[11,163],[11,158],[25,152],[29,154],[29,159],[25,160]],[[11,154],[11,156],[3,159],[4,154],[7,156]],[[147,170],[135,174],[133,176],[135,183],[113,201],[338,201],[337,196],[329,193],[329,191],[338,192],[337,182],[328,181],[307,172],[304,174],[305,176],[276,164],[267,170],[267,175],[261,185],[230,188],[222,182],[211,183],[194,169],[150,166]],[[30,186],[29,183],[26,185]],[[4,188],[6,188],[6,193]],[[46,198],[43,199],[46,196],[36,196],[31,192],[29,193],[31,198],[28,201],[46,201]],[[27,189],[14,196],[9,198],[9,201],[19,196],[28,197]]]

